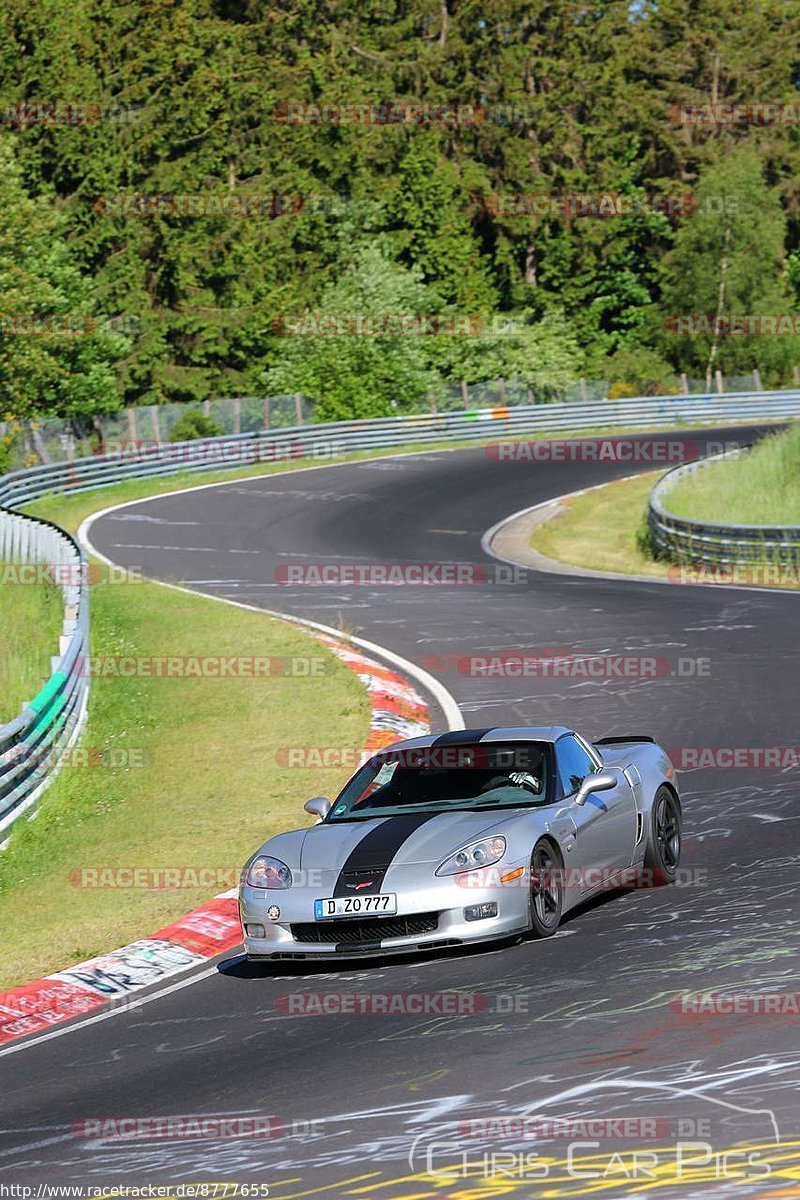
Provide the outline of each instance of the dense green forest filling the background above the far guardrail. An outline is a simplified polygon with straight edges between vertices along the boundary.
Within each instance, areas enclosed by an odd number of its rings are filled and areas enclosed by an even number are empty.
[[[786,382],[796,337],[669,322],[796,306],[799,126],[681,124],[674,106],[799,103],[799,34],[784,0],[5,0],[7,311],[137,320],[130,337],[2,335],[0,419],[266,390],[363,416],[491,378],[543,397],[581,374],[619,394],[709,368]],[[23,102],[95,107],[29,121]],[[303,103],[476,115],[296,124]],[[507,199],[564,193],[696,206]],[[234,197],[245,211],[222,210]],[[287,334],[354,311],[482,323]]]

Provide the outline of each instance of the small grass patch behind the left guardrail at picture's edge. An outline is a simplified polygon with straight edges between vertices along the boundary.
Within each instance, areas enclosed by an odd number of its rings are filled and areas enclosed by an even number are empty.
[[[0,563],[0,725],[19,716],[49,679],[64,624],[61,588],[25,584],[14,570],[16,564]]]

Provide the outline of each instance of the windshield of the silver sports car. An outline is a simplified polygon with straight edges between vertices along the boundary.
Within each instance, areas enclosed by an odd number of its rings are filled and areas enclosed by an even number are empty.
[[[326,820],[547,804],[551,752],[545,742],[383,750],[355,773]]]

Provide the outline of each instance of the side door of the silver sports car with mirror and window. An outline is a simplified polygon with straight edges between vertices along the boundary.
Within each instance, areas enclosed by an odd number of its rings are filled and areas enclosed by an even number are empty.
[[[615,787],[593,792],[584,804],[575,803],[575,794],[588,775],[596,775],[602,763],[573,733],[564,734],[555,743],[555,769],[561,797],[561,812],[569,814],[575,826],[575,864],[587,874],[582,890],[590,892],[601,877],[630,866],[636,841],[636,803],[630,784],[621,772]]]

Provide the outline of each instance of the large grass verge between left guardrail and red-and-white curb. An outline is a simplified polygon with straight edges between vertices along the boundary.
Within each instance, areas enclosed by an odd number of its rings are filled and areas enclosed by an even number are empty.
[[[37,510],[74,529],[110,500],[95,492]],[[225,872],[233,878],[265,836],[308,822],[308,796],[343,782],[341,770],[279,767],[277,750],[366,740],[369,706],[356,676],[311,635],[266,616],[156,583],[110,583],[100,569],[91,653],[299,655],[321,660],[325,673],[95,679],[84,756],[65,766],[36,820],[17,822],[0,853],[0,988],[145,936],[230,886]],[[83,868],[132,866],[212,870],[219,882],[76,886]]]

